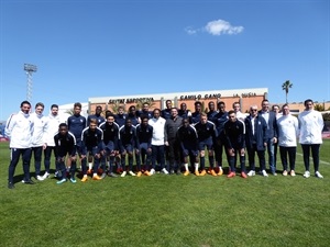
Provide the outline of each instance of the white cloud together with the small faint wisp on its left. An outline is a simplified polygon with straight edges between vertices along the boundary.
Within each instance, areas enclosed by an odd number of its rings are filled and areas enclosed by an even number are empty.
[[[233,26],[229,22],[223,21],[223,20],[216,20],[216,21],[210,21],[204,26],[202,29],[194,29],[191,26],[187,26],[185,29],[186,33],[189,35],[197,34],[198,32],[205,31],[211,35],[222,35],[222,34],[239,34],[243,32],[244,27],[243,26]]]

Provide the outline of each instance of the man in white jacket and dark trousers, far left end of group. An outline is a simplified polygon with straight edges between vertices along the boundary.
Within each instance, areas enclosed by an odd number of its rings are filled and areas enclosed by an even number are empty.
[[[13,176],[20,156],[23,159],[24,183],[34,184],[30,178],[30,161],[31,161],[31,139],[33,133],[33,122],[30,117],[31,103],[23,101],[21,103],[21,111],[12,114],[6,126],[6,135],[10,138],[11,159],[8,168],[8,188],[14,189]]]

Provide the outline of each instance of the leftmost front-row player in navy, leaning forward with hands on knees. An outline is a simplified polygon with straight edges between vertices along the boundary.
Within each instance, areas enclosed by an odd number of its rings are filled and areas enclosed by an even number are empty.
[[[66,123],[62,123],[58,126],[58,133],[54,136],[55,154],[56,154],[56,167],[59,168],[62,179],[57,181],[57,184],[66,182],[66,166],[65,158],[68,155],[70,160],[70,181],[76,182],[76,137],[73,133],[68,132]]]

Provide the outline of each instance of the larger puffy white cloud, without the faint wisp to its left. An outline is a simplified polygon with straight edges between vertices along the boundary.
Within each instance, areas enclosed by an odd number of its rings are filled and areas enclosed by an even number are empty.
[[[212,35],[221,35],[221,34],[238,34],[243,32],[243,26],[233,26],[229,22],[223,20],[216,20],[208,22],[205,26],[205,30]]]

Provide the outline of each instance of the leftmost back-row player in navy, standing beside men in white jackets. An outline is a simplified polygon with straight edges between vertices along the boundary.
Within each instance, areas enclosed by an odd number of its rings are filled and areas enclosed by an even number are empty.
[[[74,104],[74,115],[67,119],[68,131],[76,137],[77,153],[81,158],[81,133],[86,127],[86,117],[80,115],[81,103]],[[68,164],[68,166],[70,166]]]

